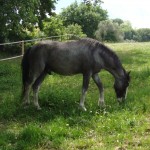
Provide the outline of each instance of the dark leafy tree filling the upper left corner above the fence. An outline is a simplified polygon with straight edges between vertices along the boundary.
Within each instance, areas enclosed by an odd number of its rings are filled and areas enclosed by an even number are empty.
[[[0,43],[25,38],[25,29],[42,28],[42,21],[53,15],[57,0],[0,0]]]

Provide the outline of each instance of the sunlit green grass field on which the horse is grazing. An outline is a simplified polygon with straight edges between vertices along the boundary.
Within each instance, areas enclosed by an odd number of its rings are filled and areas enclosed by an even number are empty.
[[[91,80],[87,112],[78,108],[81,75],[48,76],[39,93],[42,110],[24,109],[20,59],[0,62],[0,150],[149,150],[150,43],[107,45],[131,70],[127,100],[117,103],[114,78],[102,71],[106,108],[97,106]]]

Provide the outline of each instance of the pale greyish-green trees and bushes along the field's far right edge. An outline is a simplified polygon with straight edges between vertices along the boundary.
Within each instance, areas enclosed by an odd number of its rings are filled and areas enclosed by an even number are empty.
[[[150,29],[133,29],[129,21],[121,19],[100,21],[95,32],[97,39],[101,41],[120,42],[120,41],[150,41]]]

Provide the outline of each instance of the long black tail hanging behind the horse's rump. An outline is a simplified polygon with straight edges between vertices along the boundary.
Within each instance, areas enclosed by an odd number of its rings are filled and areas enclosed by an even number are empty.
[[[31,47],[29,47],[25,54],[23,55],[22,62],[21,62],[21,68],[22,68],[22,94],[24,94],[25,91],[25,85],[29,81],[29,53],[30,53]]]

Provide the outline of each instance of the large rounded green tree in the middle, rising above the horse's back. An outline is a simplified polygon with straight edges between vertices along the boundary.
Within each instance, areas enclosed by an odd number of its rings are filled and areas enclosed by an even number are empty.
[[[103,10],[100,5],[90,3],[74,2],[67,8],[63,9],[60,14],[64,25],[78,24],[82,27],[83,32],[88,37],[94,37],[95,30],[101,20],[106,20],[107,11]]]

